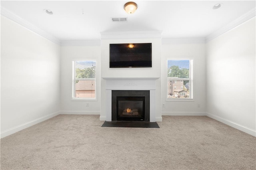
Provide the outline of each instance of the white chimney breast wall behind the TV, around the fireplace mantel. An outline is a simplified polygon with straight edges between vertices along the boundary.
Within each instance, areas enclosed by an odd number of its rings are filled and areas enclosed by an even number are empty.
[[[110,43],[152,43],[152,67],[146,68],[109,68]],[[161,115],[161,39],[103,39],[101,40],[101,77],[160,77],[156,80],[156,120]],[[106,80],[101,79],[101,120],[106,118]]]

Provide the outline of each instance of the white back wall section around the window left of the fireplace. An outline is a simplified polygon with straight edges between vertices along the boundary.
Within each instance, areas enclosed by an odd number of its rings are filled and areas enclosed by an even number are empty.
[[[72,61],[96,60],[96,101],[72,100]],[[61,114],[100,115],[100,45],[61,47]],[[86,107],[86,104],[89,107]]]

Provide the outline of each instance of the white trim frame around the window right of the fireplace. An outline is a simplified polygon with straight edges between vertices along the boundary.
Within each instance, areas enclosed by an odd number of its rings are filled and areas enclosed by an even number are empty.
[[[191,76],[191,83],[192,83],[192,99],[169,99],[168,96],[167,96],[167,93],[168,93],[168,74],[167,74],[167,71],[168,71],[168,68],[167,68],[167,63],[168,63],[168,60],[193,60],[193,69],[192,69],[192,76]],[[194,60],[194,57],[166,57],[166,60],[165,60],[165,67],[164,67],[164,94],[165,94],[165,101],[194,101],[194,65],[195,65],[195,60]]]

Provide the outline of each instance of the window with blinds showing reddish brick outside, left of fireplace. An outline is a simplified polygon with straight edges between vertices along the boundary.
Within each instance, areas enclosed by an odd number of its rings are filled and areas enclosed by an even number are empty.
[[[73,99],[96,99],[96,61],[73,61]]]

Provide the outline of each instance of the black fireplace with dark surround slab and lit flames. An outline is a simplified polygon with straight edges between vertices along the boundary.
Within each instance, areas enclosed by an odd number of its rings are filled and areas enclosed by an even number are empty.
[[[113,90],[112,121],[149,121],[150,91]]]

